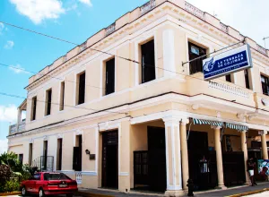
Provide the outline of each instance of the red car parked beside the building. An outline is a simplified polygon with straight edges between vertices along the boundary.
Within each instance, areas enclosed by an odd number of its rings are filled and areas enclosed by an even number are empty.
[[[44,197],[66,194],[70,197],[77,192],[77,183],[63,173],[40,172],[29,180],[23,181],[21,188],[22,195],[39,194],[39,197]]]

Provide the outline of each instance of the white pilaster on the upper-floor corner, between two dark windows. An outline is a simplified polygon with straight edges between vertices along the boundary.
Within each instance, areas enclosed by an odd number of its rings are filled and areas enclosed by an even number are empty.
[[[175,36],[174,30],[163,30],[163,68],[164,76],[172,76],[176,73],[175,64]]]

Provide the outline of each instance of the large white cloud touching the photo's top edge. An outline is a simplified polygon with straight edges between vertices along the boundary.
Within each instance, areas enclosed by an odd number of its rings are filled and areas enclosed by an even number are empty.
[[[46,19],[57,19],[65,13],[63,4],[59,0],[10,0],[15,4],[18,13],[30,18],[35,24]]]

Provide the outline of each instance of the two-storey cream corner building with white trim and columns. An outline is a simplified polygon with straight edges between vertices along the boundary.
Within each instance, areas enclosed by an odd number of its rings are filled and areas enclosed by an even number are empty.
[[[268,158],[269,50],[245,38],[253,68],[213,81],[187,63],[244,38],[184,0],[150,1],[30,77],[8,149],[87,188],[248,182],[247,152]]]

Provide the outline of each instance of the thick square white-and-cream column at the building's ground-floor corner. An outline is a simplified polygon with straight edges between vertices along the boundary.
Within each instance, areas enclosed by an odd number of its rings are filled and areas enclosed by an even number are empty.
[[[167,173],[167,191],[165,195],[184,196],[181,176],[179,119],[175,116],[168,116],[163,118],[163,121],[165,124]]]

